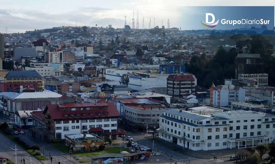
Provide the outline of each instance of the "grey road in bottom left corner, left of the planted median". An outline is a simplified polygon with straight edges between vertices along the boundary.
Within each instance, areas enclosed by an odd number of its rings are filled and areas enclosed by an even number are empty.
[[[8,139],[4,134],[0,133],[0,154],[1,157],[7,157],[11,159],[13,163],[15,163],[15,142]],[[31,156],[28,152],[26,152],[22,147],[16,145],[16,155],[17,155],[17,163],[21,163],[21,159],[25,158],[25,163],[30,164]],[[38,161],[36,158],[32,157],[33,164],[42,164],[42,162]]]

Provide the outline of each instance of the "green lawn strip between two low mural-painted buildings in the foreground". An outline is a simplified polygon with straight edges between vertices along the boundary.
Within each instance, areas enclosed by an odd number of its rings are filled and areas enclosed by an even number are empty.
[[[128,148],[121,147],[121,151],[128,151]],[[101,150],[101,151],[77,151],[77,152],[72,152],[74,157],[76,157],[77,155],[79,155],[79,157],[89,157],[91,155],[98,155],[98,154],[103,154],[103,153],[120,153],[120,147],[111,147],[111,148],[107,148],[107,149]]]

